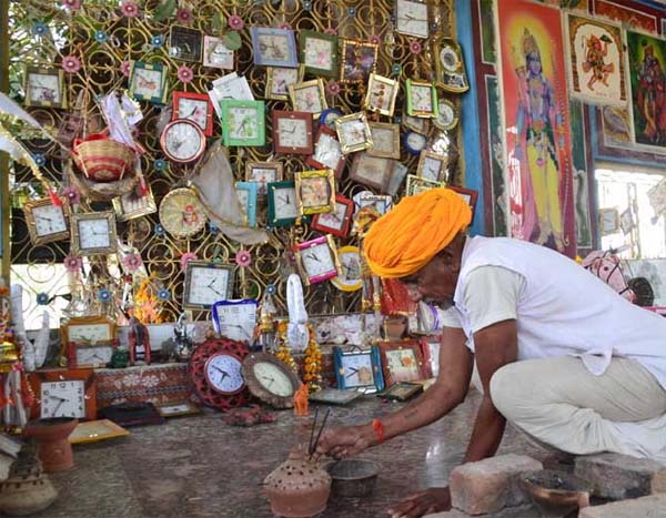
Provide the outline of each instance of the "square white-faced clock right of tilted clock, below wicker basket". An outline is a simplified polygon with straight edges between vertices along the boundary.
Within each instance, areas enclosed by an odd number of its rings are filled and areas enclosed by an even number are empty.
[[[71,253],[108,255],[118,246],[115,215],[112,211],[71,215]]]

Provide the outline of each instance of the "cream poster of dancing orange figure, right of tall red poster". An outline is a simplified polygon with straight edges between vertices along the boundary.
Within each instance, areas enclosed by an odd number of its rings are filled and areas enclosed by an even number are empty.
[[[565,17],[571,95],[588,103],[626,104],[622,28],[573,12]]]

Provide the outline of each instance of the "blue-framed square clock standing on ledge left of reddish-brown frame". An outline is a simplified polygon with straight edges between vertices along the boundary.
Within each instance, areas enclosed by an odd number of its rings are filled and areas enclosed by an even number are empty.
[[[373,345],[370,349],[343,351],[333,347],[333,367],[337,388],[354,389],[372,394],[384,389],[384,376],[380,349]]]

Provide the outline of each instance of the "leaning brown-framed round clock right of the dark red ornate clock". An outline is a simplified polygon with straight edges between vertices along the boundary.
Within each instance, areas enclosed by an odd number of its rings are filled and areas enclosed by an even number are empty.
[[[243,360],[243,377],[253,396],[274,408],[294,406],[301,380],[284,363],[268,353],[252,353]]]

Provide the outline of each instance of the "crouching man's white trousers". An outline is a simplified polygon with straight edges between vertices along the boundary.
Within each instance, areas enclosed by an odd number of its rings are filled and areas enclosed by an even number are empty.
[[[666,390],[635,360],[614,357],[601,376],[573,356],[515,362],[493,375],[491,397],[517,428],[559,450],[666,463]]]

